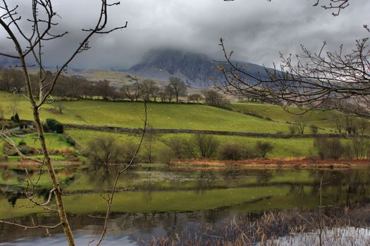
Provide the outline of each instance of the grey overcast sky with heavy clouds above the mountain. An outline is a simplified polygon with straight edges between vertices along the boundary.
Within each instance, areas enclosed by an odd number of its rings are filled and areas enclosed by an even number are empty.
[[[20,8],[29,4],[8,2]],[[326,40],[332,51],[340,44],[350,50],[355,39],[369,36],[362,28],[370,24],[369,0],[350,1],[337,17],[312,4],[314,0],[123,0],[110,8],[109,23],[115,27],[128,21],[128,27],[93,37],[92,49],[80,54],[71,67],[128,68],[150,49],[166,47],[220,58],[221,37],[235,51],[235,60],[271,66],[278,62],[279,51],[297,53],[300,44],[317,51]],[[44,61],[49,66],[60,65],[82,39],[80,29],[94,25],[99,1],[54,1],[54,11],[61,16],[58,29],[70,34],[46,46]],[[12,51],[5,37],[0,32],[0,52]]]

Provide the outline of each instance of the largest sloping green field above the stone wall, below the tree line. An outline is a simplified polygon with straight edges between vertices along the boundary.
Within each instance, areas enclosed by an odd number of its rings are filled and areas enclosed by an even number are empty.
[[[32,119],[30,106],[25,98],[0,93],[0,106],[11,117],[11,105],[16,101],[21,119]],[[116,127],[142,127],[144,106],[142,103],[115,103],[104,101],[65,101],[62,114],[42,110],[42,120],[58,119],[62,123],[109,125]],[[209,107],[175,103],[148,103],[148,124],[154,128],[199,129],[247,132],[288,132],[288,124],[242,115],[237,112]]]

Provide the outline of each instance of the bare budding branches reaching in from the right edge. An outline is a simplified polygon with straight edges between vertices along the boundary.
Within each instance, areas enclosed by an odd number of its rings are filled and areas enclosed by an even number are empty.
[[[223,72],[225,81],[218,88],[235,95],[284,101],[306,109],[322,107],[331,100],[351,103],[364,109],[370,101],[368,41],[357,40],[355,48],[347,54],[343,54],[342,46],[338,52],[324,52],[326,42],[317,53],[301,46],[300,55],[292,57],[280,53],[279,69],[266,68],[266,76],[258,77],[231,60],[232,52],[226,51],[221,39],[225,65],[221,63],[217,67]],[[331,106],[335,108],[335,105]],[[365,114],[358,107],[357,115]]]

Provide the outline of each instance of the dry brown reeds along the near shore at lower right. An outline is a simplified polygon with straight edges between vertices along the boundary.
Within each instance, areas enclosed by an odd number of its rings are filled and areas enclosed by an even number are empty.
[[[233,219],[221,226],[204,224],[195,232],[184,230],[173,237],[152,238],[150,242],[138,238],[137,243],[152,246],[369,245],[370,231],[366,227],[350,214],[270,212],[259,219]]]

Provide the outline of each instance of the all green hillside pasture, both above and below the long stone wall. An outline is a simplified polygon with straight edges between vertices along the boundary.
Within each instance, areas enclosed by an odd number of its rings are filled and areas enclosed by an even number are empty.
[[[108,101],[63,101],[63,113],[49,110],[53,104],[48,104],[42,109],[42,119],[55,118],[62,123],[89,124],[97,126],[116,127],[142,127],[144,117],[143,103],[132,102],[108,102]],[[55,103],[54,103],[55,104]],[[0,107],[5,110],[6,117],[11,116],[11,109],[16,107],[16,112],[21,119],[32,119],[32,112],[26,98],[14,96],[10,93],[0,92]],[[273,122],[259,117],[244,115],[239,112],[223,110],[206,105],[175,104],[175,103],[148,103],[147,122],[153,128],[161,129],[199,129],[218,131],[245,131],[260,133],[288,133],[288,122],[295,122],[297,116],[290,115],[276,105],[233,103],[233,110],[250,112],[263,117],[269,117]],[[298,112],[297,108],[292,108]],[[307,124],[316,124],[319,127],[334,129],[331,119],[338,115],[335,111],[315,110],[308,112]],[[306,131],[309,133],[309,130]],[[320,132],[328,132],[321,130]],[[111,135],[119,141],[139,141],[139,134],[113,134],[99,131],[68,130],[82,146],[87,146],[87,141],[98,135]],[[156,134],[154,143],[154,155],[166,146],[165,142],[172,136],[191,138],[192,134]],[[260,138],[244,136],[215,136],[220,143],[233,141],[245,145],[255,145]],[[39,148],[36,134],[30,134],[23,138],[27,145]],[[20,138],[14,137],[16,143]],[[274,148],[268,157],[307,157],[312,153],[313,138],[266,138]],[[58,150],[68,147],[64,136],[47,134],[49,149]]]

